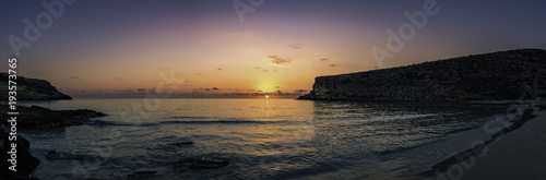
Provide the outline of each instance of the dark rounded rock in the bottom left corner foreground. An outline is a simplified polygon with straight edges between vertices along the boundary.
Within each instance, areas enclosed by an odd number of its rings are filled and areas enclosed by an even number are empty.
[[[2,125],[0,125],[2,127]],[[8,161],[11,144],[16,143],[16,170],[9,169],[12,164]],[[0,129],[0,180],[4,179],[29,179],[28,176],[38,167],[39,159],[31,155],[31,144],[28,141],[17,135],[16,141],[10,141],[9,134]]]

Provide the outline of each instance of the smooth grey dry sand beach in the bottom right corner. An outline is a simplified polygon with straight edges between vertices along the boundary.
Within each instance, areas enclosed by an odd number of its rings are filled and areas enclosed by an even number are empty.
[[[432,179],[546,179],[546,110],[522,127],[490,142],[478,156],[450,165]]]

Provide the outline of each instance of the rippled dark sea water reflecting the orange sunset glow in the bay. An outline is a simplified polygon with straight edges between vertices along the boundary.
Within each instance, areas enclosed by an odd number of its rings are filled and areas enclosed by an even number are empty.
[[[452,153],[506,107],[462,103],[294,99],[74,99],[83,125],[21,131],[40,179],[410,178]],[[183,142],[193,142],[186,144]],[[57,158],[46,154],[56,151]],[[197,160],[228,161],[194,168]]]

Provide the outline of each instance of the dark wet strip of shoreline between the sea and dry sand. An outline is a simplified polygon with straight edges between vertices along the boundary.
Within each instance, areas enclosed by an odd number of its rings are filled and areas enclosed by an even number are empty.
[[[520,116],[509,119],[508,121],[510,121],[511,123],[502,128],[498,132],[492,133],[490,135],[491,137],[490,140],[487,140],[478,144],[474,143],[474,145],[471,148],[455,153],[450,157],[432,165],[429,170],[418,172],[413,177],[416,179],[425,178],[425,179],[446,179],[446,180],[467,178],[463,177],[465,172],[473,171],[474,165],[477,161],[476,158],[479,159],[480,157],[486,156],[490,152],[489,149],[490,146],[494,146],[496,144],[506,144],[506,143],[499,143],[501,142],[500,140],[502,137],[519,132],[514,130],[520,130],[524,124],[526,124],[531,120],[536,121],[542,116],[546,116],[546,105],[544,103],[537,104],[535,106],[530,106],[525,108],[523,113],[521,113]],[[501,151],[498,152],[502,153]],[[502,161],[502,159],[498,159],[497,161]],[[484,164],[491,164],[491,161],[487,161]]]

